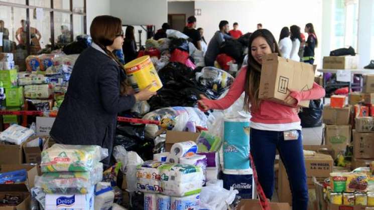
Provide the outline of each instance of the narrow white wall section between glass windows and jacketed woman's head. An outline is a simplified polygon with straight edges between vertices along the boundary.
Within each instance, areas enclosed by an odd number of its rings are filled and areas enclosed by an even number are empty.
[[[86,2],[86,13],[87,13],[87,34],[89,34],[89,28],[92,20],[96,16],[110,15],[110,5],[113,1],[110,0],[87,0]]]

